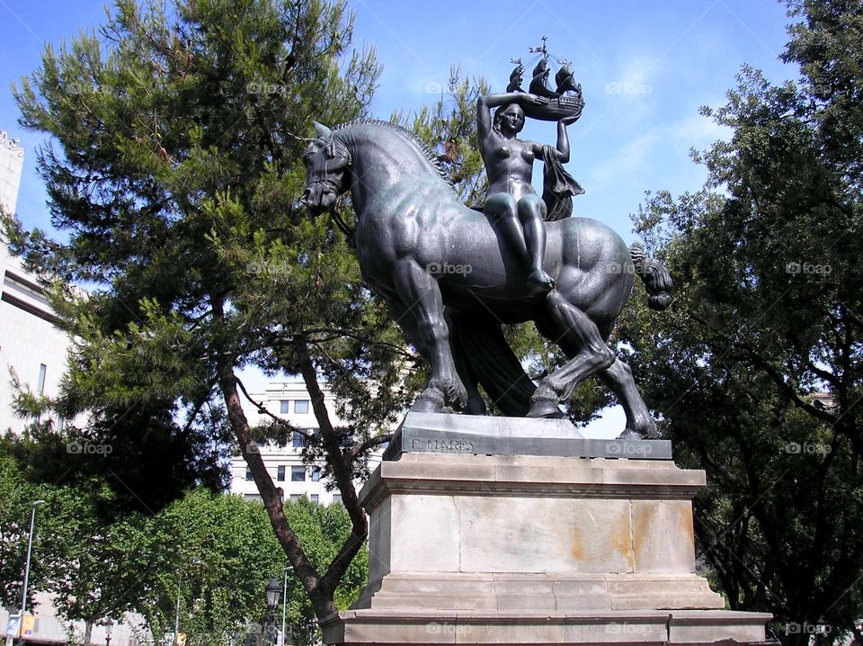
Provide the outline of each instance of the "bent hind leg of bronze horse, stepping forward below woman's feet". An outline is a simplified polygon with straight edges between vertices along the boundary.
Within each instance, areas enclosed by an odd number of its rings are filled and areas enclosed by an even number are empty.
[[[596,324],[582,310],[566,301],[560,292],[546,299],[551,324],[545,327],[549,340],[570,349],[573,358],[539,381],[531,398],[528,417],[557,417],[557,404],[569,399],[575,387],[592,374],[604,371],[615,362]],[[556,338],[555,338],[556,335]]]

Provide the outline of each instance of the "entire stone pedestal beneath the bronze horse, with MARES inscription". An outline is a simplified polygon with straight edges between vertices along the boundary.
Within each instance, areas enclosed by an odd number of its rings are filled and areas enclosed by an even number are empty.
[[[322,624],[325,642],[764,642],[770,615],[721,610],[695,573],[691,500],[704,471],[572,457],[590,443],[559,420],[517,421],[532,436],[556,435],[563,454],[474,454],[494,418],[434,417],[405,419],[396,460],[381,462],[360,492],[369,585]],[[441,430],[440,417],[453,427]],[[464,436],[452,436],[458,426]],[[494,442],[507,453],[500,434]]]

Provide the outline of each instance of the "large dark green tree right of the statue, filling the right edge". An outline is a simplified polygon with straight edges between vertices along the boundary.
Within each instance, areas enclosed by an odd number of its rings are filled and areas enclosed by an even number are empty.
[[[696,156],[707,185],[639,211],[679,288],[622,336],[678,458],[707,470],[696,531],[728,605],[832,643],[863,615],[863,5],[790,13],[800,78],[744,67],[704,109],[730,132]]]

